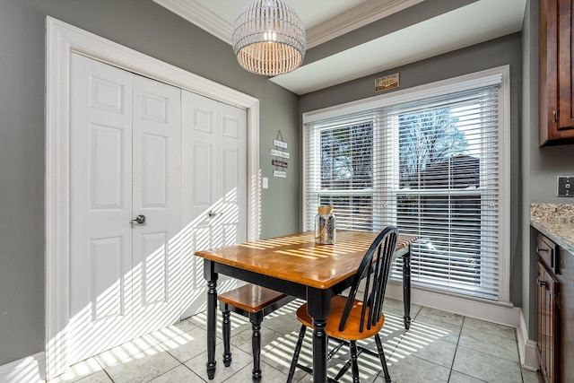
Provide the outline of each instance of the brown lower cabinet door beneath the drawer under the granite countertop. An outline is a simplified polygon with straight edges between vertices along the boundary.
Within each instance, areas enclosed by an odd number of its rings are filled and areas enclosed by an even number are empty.
[[[546,267],[537,266],[537,347],[545,382],[560,380],[560,312],[557,304],[560,284]]]

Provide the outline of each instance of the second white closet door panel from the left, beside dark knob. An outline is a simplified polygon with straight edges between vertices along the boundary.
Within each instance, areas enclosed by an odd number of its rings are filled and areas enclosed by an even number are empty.
[[[133,91],[135,335],[179,320],[181,90],[135,75]]]

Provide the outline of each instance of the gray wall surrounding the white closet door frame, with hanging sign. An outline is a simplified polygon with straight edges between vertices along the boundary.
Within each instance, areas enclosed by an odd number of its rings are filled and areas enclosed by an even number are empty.
[[[299,228],[298,98],[152,0],[0,0],[0,366],[44,350],[44,55],[50,15],[260,100],[262,238]],[[277,131],[288,178],[273,178]],[[281,219],[278,219],[281,217]]]

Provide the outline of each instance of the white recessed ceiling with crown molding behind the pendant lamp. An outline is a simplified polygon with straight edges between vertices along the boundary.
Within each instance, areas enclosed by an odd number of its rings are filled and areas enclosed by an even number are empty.
[[[300,16],[307,48],[316,47],[424,0],[285,0]],[[153,0],[231,45],[233,23],[248,0]]]

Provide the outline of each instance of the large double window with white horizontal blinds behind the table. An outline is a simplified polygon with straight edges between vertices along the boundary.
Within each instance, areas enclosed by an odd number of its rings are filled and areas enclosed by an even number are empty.
[[[307,229],[318,205],[334,206],[338,230],[396,225],[419,237],[413,284],[508,301],[504,74],[304,115]]]

